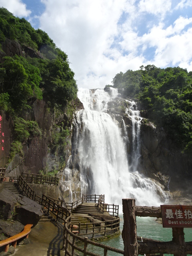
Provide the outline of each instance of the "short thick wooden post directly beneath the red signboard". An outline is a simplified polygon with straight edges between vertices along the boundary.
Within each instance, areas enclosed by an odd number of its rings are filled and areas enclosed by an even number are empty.
[[[180,245],[180,250],[174,256],[186,256],[184,248],[186,247],[183,228],[172,228],[172,241]]]

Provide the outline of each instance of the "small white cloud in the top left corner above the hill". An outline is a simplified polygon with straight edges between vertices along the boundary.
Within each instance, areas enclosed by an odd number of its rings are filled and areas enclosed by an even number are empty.
[[[21,0],[0,0],[0,6],[18,17],[28,17],[31,13],[30,10],[27,10],[26,4],[22,3]]]

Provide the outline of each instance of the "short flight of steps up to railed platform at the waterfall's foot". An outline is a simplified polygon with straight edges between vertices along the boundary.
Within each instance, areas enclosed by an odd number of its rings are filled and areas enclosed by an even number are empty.
[[[79,204],[72,210],[72,214],[89,214],[89,213],[101,213],[96,203],[83,203]]]

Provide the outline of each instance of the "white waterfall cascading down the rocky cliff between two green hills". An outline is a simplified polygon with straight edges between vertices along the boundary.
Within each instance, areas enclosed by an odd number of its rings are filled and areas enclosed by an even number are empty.
[[[142,118],[135,102],[129,102],[126,114],[132,128],[132,163],[129,166],[126,143],[129,143],[123,119],[121,127],[108,106],[115,105],[118,91],[114,88],[80,89],[78,98],[84,110],[76,112],[72,153],[80,171],[81,192],[105,194],[108,203],[121,204],[122,198],[135,198],[137,205],[159,205],[166,200],[166,192],[158,182],[144,177],[136,170],[140,157],[139,127]],[[122,136],[123,135],[123,136]]]

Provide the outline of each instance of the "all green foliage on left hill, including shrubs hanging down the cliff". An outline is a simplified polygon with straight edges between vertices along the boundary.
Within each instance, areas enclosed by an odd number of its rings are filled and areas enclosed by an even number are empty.
[[[43,134],[35,120],[25,120],[34,100],[45,100],[47,109],[57,111],[60,116],[71,109],[69,102],[76,98],[78,89],[68,56],[56,47],[48,34],[35,30],[24,18],[14,17],[5,8],[0,8],[1,56],[4,56],[7,39],[19,43],[26,52],[23,56],[3,57],[0,64],[0,112],[8,113],[14,124],[12,160],[15,154],[24,157],[22,145]],[[26,57],[28,50],[38,58]],[[61,166],[64,165],[64,150],[70,133],[65,125],[68,124],[53,126],[50,145],[50,150],[60,157]]]

